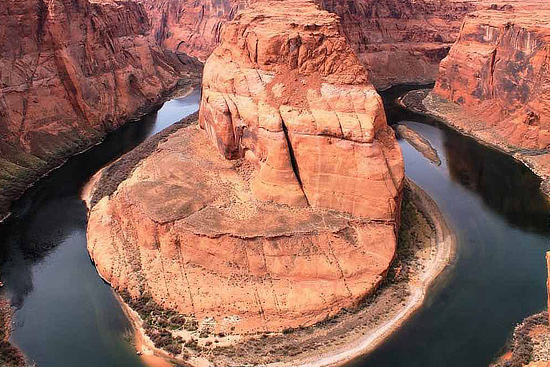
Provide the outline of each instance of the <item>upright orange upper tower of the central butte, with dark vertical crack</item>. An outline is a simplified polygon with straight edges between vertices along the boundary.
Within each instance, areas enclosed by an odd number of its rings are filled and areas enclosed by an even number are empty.
[[[201,126],[226,158],[259,167],[260,199],[392,220],[403,162],[382,101],[337,17],[286,3],[227,24],[205,64]]]

